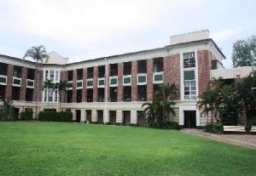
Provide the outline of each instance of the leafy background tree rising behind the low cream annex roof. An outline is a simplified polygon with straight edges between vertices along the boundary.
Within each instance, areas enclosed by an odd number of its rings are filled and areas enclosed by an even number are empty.
[[[232,61],[234,67],[251,66],[256,59],[256,37],[238,40],[233,45]]]

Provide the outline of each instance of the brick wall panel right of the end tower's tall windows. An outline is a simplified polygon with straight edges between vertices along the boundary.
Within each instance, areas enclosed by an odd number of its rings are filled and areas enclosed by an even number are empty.
[[[211,70],[211,53],[208,50],[197,51],[198,91],[202,94],[208,87]]]

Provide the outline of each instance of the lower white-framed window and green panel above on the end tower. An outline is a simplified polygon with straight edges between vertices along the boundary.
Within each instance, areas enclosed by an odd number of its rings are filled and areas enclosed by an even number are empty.
[[[184,99],[196,99],[195,71],[184,71]]]

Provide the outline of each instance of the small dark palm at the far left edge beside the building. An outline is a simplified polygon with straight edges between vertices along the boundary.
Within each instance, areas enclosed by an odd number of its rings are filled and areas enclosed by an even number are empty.
[[[11,98],[3,99],[3,105],[0,106],[0,116],[2,120],[11,118],[14,111],[13,101]]]

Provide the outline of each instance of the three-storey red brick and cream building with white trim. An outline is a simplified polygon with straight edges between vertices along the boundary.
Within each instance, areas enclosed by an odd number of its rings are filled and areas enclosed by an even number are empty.
[[[154,98],[160,83],[174,82],[179,88],[176,116],[172,121],[185,127],[203,126],[196,99],[207,88],[211,71],[223,68],[225,56],[209,38],[197,31],[170,38],[170,45],[128,54],[67,64],[54,52],[40,65],[35,86],[35,63],[0,55],[0,99],[14,99],[15,114],[26,108],[59,111],[58,91],[42,90],[46,78],[67,80],[69,88],[61,107],[73,111],[77,122],[144,124],[142,105]],[[49,105],[47,102],[49,101]]]

